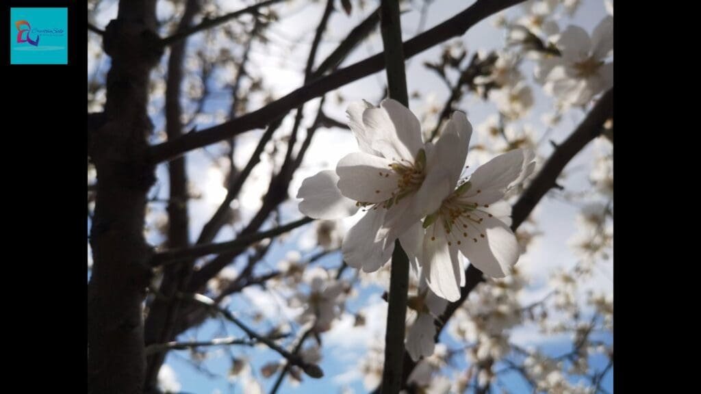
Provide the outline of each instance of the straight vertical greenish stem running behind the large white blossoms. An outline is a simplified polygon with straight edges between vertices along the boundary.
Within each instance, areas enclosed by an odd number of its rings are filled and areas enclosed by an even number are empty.
[[[382,0],[380,27],[389,95],[408,108],[407,74],[404,70],[404,46],[402,45],[402,27],[397,0]],[[402,388],[408,291],[409,259],[399,240],[395,240],[390,272],[382,394],[397,394]]]

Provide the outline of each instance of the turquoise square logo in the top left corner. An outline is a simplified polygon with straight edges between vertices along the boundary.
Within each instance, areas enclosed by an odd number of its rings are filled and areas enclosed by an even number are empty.
[[[10,64],[68,64],[68,8],[10,8]]]

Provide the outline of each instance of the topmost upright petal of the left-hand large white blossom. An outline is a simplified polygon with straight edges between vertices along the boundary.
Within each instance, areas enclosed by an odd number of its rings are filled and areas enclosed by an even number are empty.
[[[362,123],[372,138],[372,149],[390,160],[414,163],[418,150],[423,147],[421,123],[407,107],[395,100],[383,100],[380,108],[363,112]]]

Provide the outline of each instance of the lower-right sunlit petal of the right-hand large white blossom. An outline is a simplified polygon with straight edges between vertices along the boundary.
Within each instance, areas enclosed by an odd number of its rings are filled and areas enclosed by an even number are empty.
[[[475,212],[475,216],[483,219],[478,227],[484,238],[475,236],[472,240],[463,242],[460,251],[479,271],[493,278],[503,278],[519,259],[516,236],[509,226],[495,217],[482,212]]]

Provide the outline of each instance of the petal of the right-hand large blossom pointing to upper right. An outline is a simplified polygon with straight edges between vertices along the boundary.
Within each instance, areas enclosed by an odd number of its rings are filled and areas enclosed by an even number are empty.
[[[479,205],[499,201],[510,187],[530,175],[534,166],[529,149],[514,149],[496,156],[472,172],[472,186],[461,198]]]

